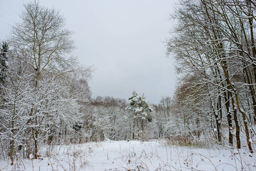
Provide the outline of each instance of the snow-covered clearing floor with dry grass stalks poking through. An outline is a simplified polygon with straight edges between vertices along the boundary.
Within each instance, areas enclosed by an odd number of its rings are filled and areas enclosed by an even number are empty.
[[[167,146],[164,141],[104,141],[55,146],[41,159],[0,161],[0,170],[256,170],[244,150]]]

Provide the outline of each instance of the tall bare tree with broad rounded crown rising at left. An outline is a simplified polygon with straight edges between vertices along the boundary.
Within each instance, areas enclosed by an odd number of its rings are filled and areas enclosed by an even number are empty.
[[[45,130],[42,127],[44,120],[56,116],[52,113],[60,111],[58,108],[51,111],[52,105],[49,104],[56,101],[64,103],[65,100],[60,99],[71,98],[58,89],[58,95],[52,97],[52,85],[66,86],[64,81],[71,82],[75,77],[88,79],[92,70],[90,67],[79,66],[76,58],[67,57],[75,46],[71,39],[72,32],[64,27],[65,19],[59,11],[40,6],[36,1],[24,7],[25,10],[19,15],[21,22],[11,29],[9,42],[11,55],[32,68],[29,123],[34,140],[34,156],[37,158],[39,136]]]

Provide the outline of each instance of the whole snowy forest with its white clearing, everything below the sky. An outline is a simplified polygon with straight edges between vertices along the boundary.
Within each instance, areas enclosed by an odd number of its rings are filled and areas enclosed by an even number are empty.
[[[176,90],[150,104],[136,90],[129,99],[92,97],[95,68],[71,55],[64,16],[25,4],[1,43],[0,170],[255,170],[255,14],[252,0],[181,0],[165,42]],[[133,141],[159,146],[149,154],[129,144],[126,154],[115,144]],[[96,149],[107,142],[121,154],[111,163],[126,162],[119,168],[97,168],[86,158],[103,153]],[[218,150],[212,160],[210,150]],[[111,150],[104,152],[110,161]]]

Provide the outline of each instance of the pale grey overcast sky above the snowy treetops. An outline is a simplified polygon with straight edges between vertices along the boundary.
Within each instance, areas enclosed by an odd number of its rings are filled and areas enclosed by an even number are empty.
[[[25,0],[0,0],[0,40],[19,22]],[[173,23],[174,0],[40,0],[55,7],[74,31],[79,62],[96,68],[90,81],[92,97],[128,99],[135,90],[150,103],[172,96],[176,75],[165,56]]]

